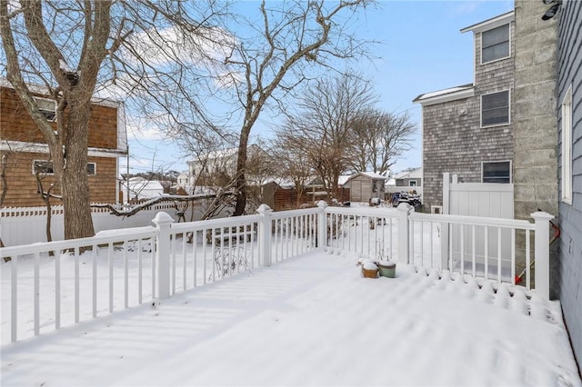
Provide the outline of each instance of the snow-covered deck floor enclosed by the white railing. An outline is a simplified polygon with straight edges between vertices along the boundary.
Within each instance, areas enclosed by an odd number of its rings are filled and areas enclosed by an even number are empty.
[[[559,303],[356,260],[309,253],[7,344],[0,383],[582,386]]]

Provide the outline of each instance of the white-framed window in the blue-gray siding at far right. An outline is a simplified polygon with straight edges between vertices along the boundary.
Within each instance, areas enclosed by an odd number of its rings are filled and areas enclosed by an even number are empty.
[[[572,85],[562,102],[562,156],[560,188],[562,202],[572,203]]]

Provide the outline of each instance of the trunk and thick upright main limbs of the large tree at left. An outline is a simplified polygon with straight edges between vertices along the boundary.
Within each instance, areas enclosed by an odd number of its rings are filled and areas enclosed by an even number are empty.
[[[109,51],[115,51],[120,44],[123,28],[110,40],[111,1],[76,3],[76,6],[73,3],[43,5],[38,1],[22,1],[17,7],[14,5],[8,0],[0,1],[6,78],[48,144],[63,193],[65,237],[93,235],[86,174],[91,97],[101,63]],[[70,14],[70,20],[81,21],[78,24],[75,21],[76,25],[68,31],[68,44],[65,36],[59,34],[65,13]],[[78,18],[73,16],[75,13]],[[81,36],[78,28],[84,30]],[[72,70],[71,64],[73,58],[69,50],[73,49],[72,45],[75,45],[74,58],[78,60],[76,70]],[[33,98],[31,77],[27,76],[30,74],[34,74],[33,79],[43,81],[48,94],[57,101],[56,131]]]

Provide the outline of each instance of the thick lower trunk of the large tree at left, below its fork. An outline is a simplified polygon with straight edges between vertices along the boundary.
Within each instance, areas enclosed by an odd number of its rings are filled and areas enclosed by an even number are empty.
[[[90,100],[70,106],[65,138],[65,166],[61,193],[65,218],[65,239],[95,235],[91,216],[87,176],[87,134]]]

